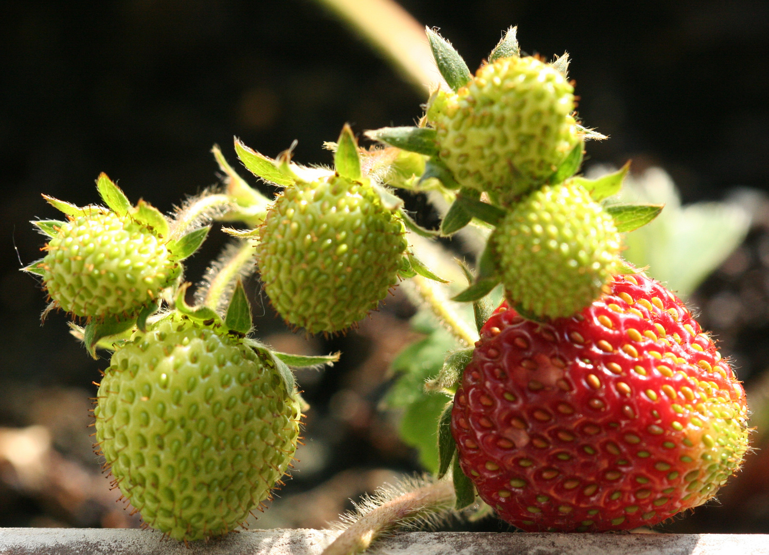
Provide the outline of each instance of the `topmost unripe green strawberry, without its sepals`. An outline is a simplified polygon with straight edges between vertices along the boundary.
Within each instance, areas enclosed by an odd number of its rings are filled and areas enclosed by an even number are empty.
[[[542,184],[578,145],[573,93],[558,69],[536,58],[484,65],[456,93],[431,99],[440,158],[462,186],[508,203]]]

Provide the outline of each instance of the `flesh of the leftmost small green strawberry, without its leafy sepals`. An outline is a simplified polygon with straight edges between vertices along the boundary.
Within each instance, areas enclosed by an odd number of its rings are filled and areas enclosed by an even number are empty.
[[[36,268],[48,295],[80,317],[135,316],[181,274],[155,229],[105,208],[70,216],[45,251]]]

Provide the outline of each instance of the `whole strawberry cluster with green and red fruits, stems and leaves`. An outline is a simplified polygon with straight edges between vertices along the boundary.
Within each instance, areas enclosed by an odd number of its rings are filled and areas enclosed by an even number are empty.
[[[175,540],[221,536],[291,467],[301,399],[291,368],[331,365],[253,337],[242,280],[258,271],[289,327],[341,334],[394,287],[425,337],[394,361],[386,399],[431,475],[348,515],[327,554],[468,510],[522,530],[652,526],[711,499],[747,450],[744,390],[690,311],[625,261],[628,232],[661,204],[625,204],[629,165],[582,175],[568,55],[525,56],[515,28],[471,75],[428,29],[444,83],[413,127],[344,125],[332,168],[269,158],[235,139],[267,198],[215,158],[225,187],[166,216],[105,174],[105,207],[45,197],[66,221],[37,274],[89,354],[111,351],[95,400],[97,453],[144,522]],[[428,229],[398,189],[445,205]],[[184,261],[211,221],[234,239],[188,304]],[[438,238],[478,244],[474,267]],[[451,280],[444,279],[451,278]],[[497,307],[494,310],[494,307]],[[468,509],[468,507],[473,507]]]

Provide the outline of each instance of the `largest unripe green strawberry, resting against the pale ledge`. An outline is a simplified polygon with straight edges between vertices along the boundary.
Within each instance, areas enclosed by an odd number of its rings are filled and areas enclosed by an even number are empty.
[[[300,412],[265,348],[172,314],[118,347],[95,416],[115,482],[145,523],[198,540],[234,530],[269,497]]]

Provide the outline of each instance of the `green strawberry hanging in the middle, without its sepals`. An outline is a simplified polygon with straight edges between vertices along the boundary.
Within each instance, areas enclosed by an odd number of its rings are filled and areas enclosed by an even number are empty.
[[[288,186],[259,232],[261,279],[282,317],[309,332],[345,330],[398,283],[404,226],[368,180],[332,174]]]

